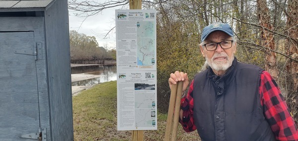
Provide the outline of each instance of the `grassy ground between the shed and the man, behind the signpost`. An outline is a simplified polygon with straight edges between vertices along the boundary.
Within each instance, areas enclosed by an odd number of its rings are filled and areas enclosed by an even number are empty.
[[[131,141],[132,131],[117,131],[117,82],[105,82],[73,97],[74,141]],[[166,114],[157,112],[157,130],[144,131],[145,141],[163,141]],[[198,141],[179,124],[177,141]]]

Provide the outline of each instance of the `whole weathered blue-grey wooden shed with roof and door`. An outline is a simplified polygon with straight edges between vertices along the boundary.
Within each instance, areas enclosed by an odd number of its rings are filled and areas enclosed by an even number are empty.
[[[0,141],[73,141],[67,0],[0,0]]]

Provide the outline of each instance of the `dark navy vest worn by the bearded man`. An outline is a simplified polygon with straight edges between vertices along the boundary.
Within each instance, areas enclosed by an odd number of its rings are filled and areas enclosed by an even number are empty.
[[[260,104],[262,71],[235,58],[222,77],[211,68],[195,76],[194,122],[202,141],[275,141]]]

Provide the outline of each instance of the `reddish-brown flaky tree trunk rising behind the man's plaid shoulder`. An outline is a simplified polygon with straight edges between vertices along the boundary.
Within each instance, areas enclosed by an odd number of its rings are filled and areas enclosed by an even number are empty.
[[[269,9],[267,7],[266,0],[257,0],[257,13],[259,18],[259,25],[262,27],[266,27],[270,30],[274,30]],[[264,48],[267,48],[267,52],[265,52],[265,69],[272,75],[273,78],[278,77],[277,65],[276,65],[276,54],[271,50],[275,49],[275,42],[273,38],[273,34],[265,29],[261,29],[261,44]]]

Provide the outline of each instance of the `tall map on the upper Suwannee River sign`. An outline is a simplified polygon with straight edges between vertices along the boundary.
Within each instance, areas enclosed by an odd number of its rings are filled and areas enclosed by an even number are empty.
[[[155,24],[153,21],[137,22],[139,66],[152,66],[155,63]]]

